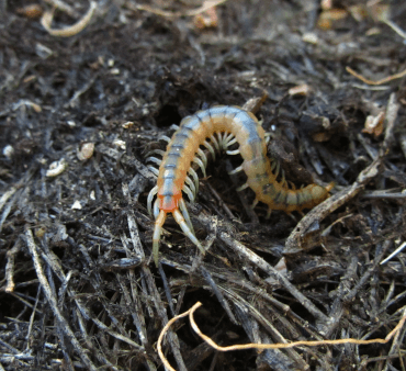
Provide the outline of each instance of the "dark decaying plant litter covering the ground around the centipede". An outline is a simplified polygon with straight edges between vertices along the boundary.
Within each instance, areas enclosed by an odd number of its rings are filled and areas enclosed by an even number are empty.
[[[399,323],[402,1],[0,8],[2,369],[163,369],[157,339],[196,302],[222,346],[385,338]],[[256,113],[295,187],[336,187],[267,221],[222,156],[189,206],[206,255],[170,222],[157,269],[145,156],[214,104]],[[177,370],[404,370],[404,342],[402,327],[386,345],[223,353],[179,321],[161,349]]]

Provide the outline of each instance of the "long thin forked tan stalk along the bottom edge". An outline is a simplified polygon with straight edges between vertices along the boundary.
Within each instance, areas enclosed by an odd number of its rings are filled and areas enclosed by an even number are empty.
[[[403,310],[403,316],[398,324],[395,326],[395,328],[387,334],[387,336],[384,339],[371,339],[371,340],[359,340],[359,339],[338,339],[338,340],[316,340],[316,341],[306,341],[306,340],[301,340],[301,341],[293,341],[293,342],[277,342],[277,344],[256,344],[256,342],[249,342],[249,344],[241,344],[241,345],[235,345],[235,346],[228,346],[228,347],[222,347],[214,342],[208,336],[204,335],[196,323],[194,322],[193,314],[194,312],[202,306],[201,302],[195,303],[189,311],[177,315],[172,319],[170,319],[166,326],[162,328],[159,338],[158,338],[158,344],[157,344],[157,349],[158,349],[158,355],[162,363],[165,364],[167,370],[170,371],[176,371],[168,362],[166,359],[163,352],[162,352],[162,339],[165,334],[168,331],[169,327],[177,322],[179,318],[185,317],[189,315],[189,321],[190,324],[193,328],[193,330],[204,340],[206,341],[211,347],[218,351],[232,351],[232,350],[244,350],[244,349],[286,349],[286,348],[294,348],[298,346],[308,346],[308,347],[316,347],[316,346],[324,346],[324,345],[339,345],[339,344],[357,344],[357,345],[368,345],[368,344],[386,344],[388,342],[394,335],[396,335],[401,328],[403,327],[405,321],[406,321],[406,308]]]

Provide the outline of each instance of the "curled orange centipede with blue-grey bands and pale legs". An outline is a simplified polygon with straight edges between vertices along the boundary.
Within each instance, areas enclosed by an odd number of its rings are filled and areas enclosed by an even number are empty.
[[[332,183],[327,187],[314,183],[295,189],[289,187],[284,176],[278,180],[279,162],[267,156],[264,130],[251,112],[239,106],[216,105],[198,111],[181,121],[171,138],[165,136],[163,139],[168,142],[167,150],[155,149],[150,153],[160,155],[161,159],[155,156],[146,159],[159,166],[159,169],[148,167],[158,179],[147,198],[148,212],[155,218],[153,257],[157,266],[162,226],[168,214],[172,214],[184,235],[205,254],[195,236],[183,194],[194,202],[199,176],[192,165],[196,164],[206,177],[206,154],[213,159],[222,150],[227,155],[241,156],[243,164],[229,175],[246,173],[247,181],[237,191],[250,188],[256,194],[252,207],[259,202],[268,205],[267,217],[272,210],[290,214],[313,209],[329,196],[334,187]],[[230,149],[234,144],[238,145],[237,149]],[[207,149],[206,154],[202,147]]]

